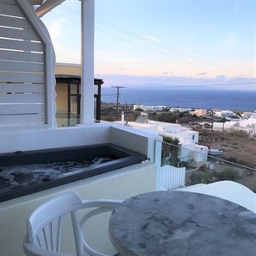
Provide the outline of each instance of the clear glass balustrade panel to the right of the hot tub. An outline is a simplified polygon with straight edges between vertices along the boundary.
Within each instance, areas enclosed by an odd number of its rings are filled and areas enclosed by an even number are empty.
[[[256,170],[253,168],[224,160],[221,154],[209,155],[200,147],[190,150],[159,140],[156,145],[162,148],[158,165],[161,170],[159,184],[164,190],[231,180],[256,191]],[[174,180],[176,183],[172,184]]]

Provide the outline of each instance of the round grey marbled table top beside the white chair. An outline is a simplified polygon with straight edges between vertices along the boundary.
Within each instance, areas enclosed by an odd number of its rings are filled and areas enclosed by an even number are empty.
[[[255,256],[256,214],[218,197],[151,192],[116,207],[109,236],[121,255]]]

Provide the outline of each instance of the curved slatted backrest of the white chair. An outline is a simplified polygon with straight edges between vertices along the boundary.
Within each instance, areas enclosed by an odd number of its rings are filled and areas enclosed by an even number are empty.
[[[64,217],[81,205],[76,192],[55,197],[35,209],[28,218],[28,243],[34,243],[47,251],[59,252]]]

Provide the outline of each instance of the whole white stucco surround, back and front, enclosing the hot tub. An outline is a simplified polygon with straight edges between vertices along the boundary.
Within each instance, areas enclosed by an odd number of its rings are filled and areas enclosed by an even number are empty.
[[[0,131],[0,153],[113,143],[146,154],[150,158],[150,162],[144,164],[130,165],[93,178],[0,203],[0,255],[24,255],[22,240],[26,234],[28,215],[38,205],[59,193],[75,190],[82,198],[125,199],[156,190],[157,167],[154,164],[156,139],[159,139],[159,135],[133,128],[121,128],[110,123],[82,125],[75,128]],[[100,234],[97,233],[98,231],[97,228],[92,232],[92,243],[97,243],[105,253],[107,249],[109,253],[115,254],[113,248],[109,247],[109,240],[106,240],[108,234],[106,228],[105,232]],[[64,244],[68,247],[67,253],[71,253],[69,243]]]

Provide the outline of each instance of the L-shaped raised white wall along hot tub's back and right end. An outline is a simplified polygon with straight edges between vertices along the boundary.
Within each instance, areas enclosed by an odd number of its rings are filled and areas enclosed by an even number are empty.
[[[153,160],[154,140],[159,138],[156,134],[109,122],[72,128],[0,131],[0,153],[113,143],[144,153]]]

